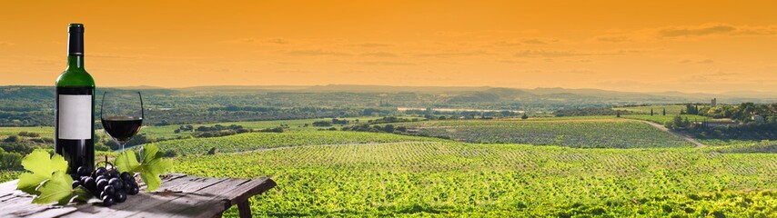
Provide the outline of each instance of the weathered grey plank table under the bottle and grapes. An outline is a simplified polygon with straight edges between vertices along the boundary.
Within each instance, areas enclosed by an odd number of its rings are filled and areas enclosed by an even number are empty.
[[[16,180],[0,184],[0,217],[220,217],[237,204],[240,217],[250,217],[248,199],[275,187],[269,178],[204,178],[163,175],[153,193],[129,195],[111,207],[81,203],[55,206],[31,203],[33,196],[16,189]],[[141,190],[144,187],[141,187]]]

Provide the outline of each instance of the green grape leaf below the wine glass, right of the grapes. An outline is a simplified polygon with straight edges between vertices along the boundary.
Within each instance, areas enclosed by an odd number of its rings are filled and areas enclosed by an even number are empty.
[[[155,144],[146,144],[140,163],[136,160],[135,152],[126,150],[116,157],[116,167],[122,172],[140,173],[140,179],[146,183],[146,191],[151,192],[162,184],[159,174],[167,173],[173,168],[173,163],[165,160],[163,156]]]

